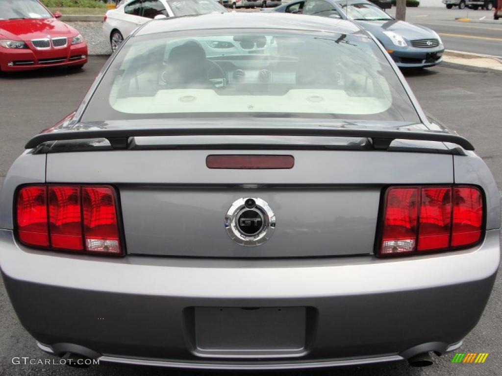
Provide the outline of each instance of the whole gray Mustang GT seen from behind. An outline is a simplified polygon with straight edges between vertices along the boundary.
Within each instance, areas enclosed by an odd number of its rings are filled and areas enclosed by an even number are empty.
[[[156,20],[12,166],[0,266],[59,356],[276,369],[445,353],[499,263],[498,191],[472,150],[354,24]]]

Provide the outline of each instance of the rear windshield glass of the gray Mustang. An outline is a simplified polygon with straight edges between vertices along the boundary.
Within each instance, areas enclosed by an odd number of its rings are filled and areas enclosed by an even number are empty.
[[[82,120],[195,116],[419,122],[372,40],[263,30],[134,37]]]

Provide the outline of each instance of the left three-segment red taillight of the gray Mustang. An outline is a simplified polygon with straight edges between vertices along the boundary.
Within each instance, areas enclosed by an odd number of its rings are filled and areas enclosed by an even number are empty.
[[[19,190],[17,234],[29,246],[122,255],[109,186],[36,185]]]

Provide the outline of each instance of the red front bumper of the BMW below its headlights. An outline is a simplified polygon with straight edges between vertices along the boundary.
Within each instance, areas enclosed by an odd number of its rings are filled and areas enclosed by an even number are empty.
[[[74,66],[87,63],[87,45],[68,46],[62,49],[33,51],[0,48],[0,69],[3,72],[28,71],[57,66]]]

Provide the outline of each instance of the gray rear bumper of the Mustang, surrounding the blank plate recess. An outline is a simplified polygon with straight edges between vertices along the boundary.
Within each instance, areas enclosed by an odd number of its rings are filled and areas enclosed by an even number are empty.
[[[499,252],[499,230],[490,230],[473,249],[401,260],[118,260],[27,250],[0,230],[7,291],[44,350],[192,368],[349,365],[451,350],[483,312]],[[208,354],[193,307],[308,307],[305,346]]]

